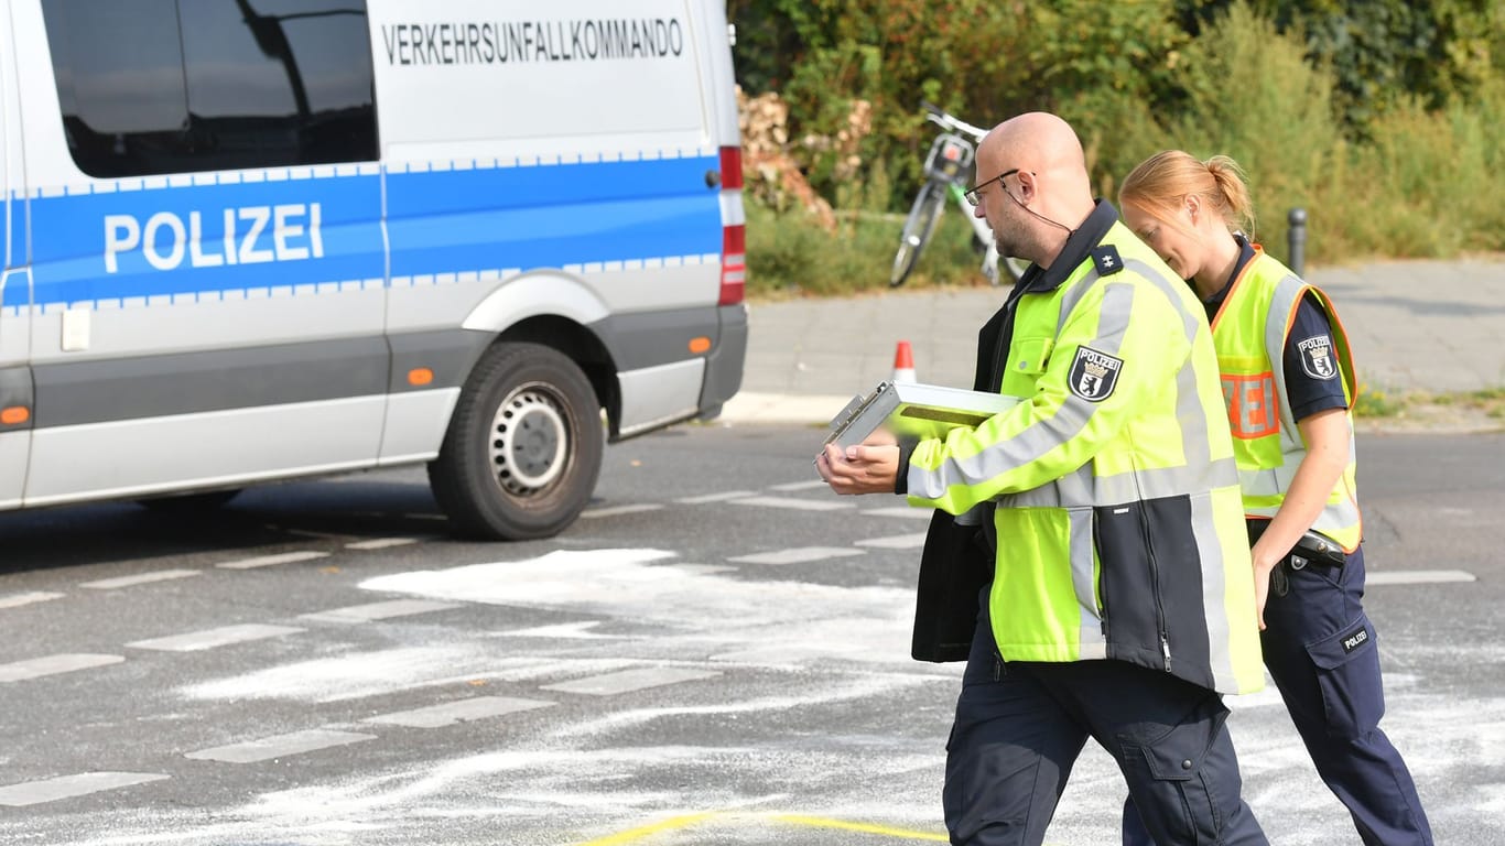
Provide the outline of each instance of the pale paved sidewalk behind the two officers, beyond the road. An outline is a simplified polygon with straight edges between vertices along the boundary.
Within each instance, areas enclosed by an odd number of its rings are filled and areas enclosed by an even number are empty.
[[[1505,257],[1312,268],[1338,307],[1359,381],[1389,393],[1505,387]],[[742,391],[722,420],[826,423],[886,379],[908,340],[923,382],[971,387],[977,330],[1007,288],[883,291],[751,306]]]

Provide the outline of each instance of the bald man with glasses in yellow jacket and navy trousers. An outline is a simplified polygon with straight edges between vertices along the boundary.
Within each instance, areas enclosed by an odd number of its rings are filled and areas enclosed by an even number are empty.
[[[1207,316],[1091,194],[1054,114],[995,126],[968,191],[1032,265],[978,334],[974,390],[1020,402],[945,438],[826,447],[838,494],[935,516],[914,655],[966,661],[951,843],[1040,844],[1087,739],[1160,846],[1266,843],[1222,694],[1264,685],[1239,476]]]

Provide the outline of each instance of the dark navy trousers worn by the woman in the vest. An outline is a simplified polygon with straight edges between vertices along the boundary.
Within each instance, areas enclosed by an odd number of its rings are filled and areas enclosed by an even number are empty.
[[[1380,730],[1385,692],[1374,625],[1364,613],[1364,549],[1342,568],[1291,569],[1285,596],[1264,605],[1264,665],[1285,700],[1317,774],[1342,801],[1365,846],[1431,846],[1431,828],[1406,762]],[[1135,798],[1124,844],[1150,846]]]

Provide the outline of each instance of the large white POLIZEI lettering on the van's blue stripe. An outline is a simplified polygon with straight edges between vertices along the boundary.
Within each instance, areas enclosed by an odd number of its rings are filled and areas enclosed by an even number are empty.
[[[117,272],[120,256],[137,250],[160,271],[178,269],[185,260],[196,268],[218,268],[324,257],[319,203],[224,209],[221,233],[209,241],[203,238],[203,214],[188,212],[184,220],[163,211],[144,221],[129,214],[107,214],[105,272]]]

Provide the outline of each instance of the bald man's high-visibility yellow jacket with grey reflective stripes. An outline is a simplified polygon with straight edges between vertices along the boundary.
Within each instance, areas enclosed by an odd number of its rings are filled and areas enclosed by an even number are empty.
[[[1264,683],[1254,577],[1206,313],[1097,211],[1010,298],[1001,391],[920,441],[911,504],[993,503],[989,611],[1005,661],[1112,658],[1219,692]]]

